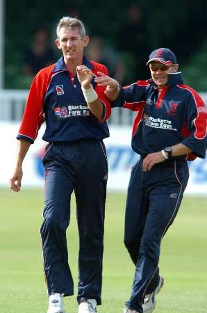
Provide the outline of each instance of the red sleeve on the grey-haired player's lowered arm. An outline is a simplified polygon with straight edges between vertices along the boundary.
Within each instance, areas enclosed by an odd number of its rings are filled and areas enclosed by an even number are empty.
[[[19,134],[32,138],[33,140],[37,138],[40,126],[44,122],[44,96],[47,92],[47,87],[49,86],[54,66],[54,64],[50,65],[38,72],[33,79],[28,93]]]

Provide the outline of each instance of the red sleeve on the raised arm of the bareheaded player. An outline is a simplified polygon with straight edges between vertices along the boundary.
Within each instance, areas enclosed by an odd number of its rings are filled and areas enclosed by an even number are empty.
[[[97,74],[97,72],[102,72],[106,75],[108,75],[108,69],[106,66],[99,64],[97,62],[94,61],[90,61],[90,63],[92,63],[92,65],[94,66],[94,69],[92,69],[92,72],[98,77],[99,75]],[[101,120],[101,122],[106,122],[106,120],[108,120],[108,118],[110,117],[110,113],[111,113],[111,107],[110,107],[110,101],[108,100],[108,98],[106,97],[104,91],[106,90],[105,86],[95,86],[94,90],[96,91],[99,99],[101,100],[101,102],[104,104],[105,106],[105,116],[103,118],[103,120]]]

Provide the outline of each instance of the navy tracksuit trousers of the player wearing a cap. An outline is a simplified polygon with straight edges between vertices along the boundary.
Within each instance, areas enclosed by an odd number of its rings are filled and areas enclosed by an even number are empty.
[[[143,312],[144,294],[158,285],[161,239],[176,217],[188,177],[186,161],[165,161],[144,172],[140,158],[131,172],[124,243],[135,264],[135,275],[126,305],[139,313]]]

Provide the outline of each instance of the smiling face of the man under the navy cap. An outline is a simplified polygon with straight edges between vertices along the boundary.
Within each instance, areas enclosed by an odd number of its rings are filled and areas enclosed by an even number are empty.
[[[167,84],[167,74],[177,72],[178,68],[178,64],[164,65],[158,61],[151,61],[149,63],[151,78],[154,80],[158,88],[163,88]]]

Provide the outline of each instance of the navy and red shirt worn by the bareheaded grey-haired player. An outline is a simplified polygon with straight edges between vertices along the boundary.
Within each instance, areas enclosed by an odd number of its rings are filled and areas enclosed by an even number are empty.
[[[104,65],[83,58],[83,64],[94,75],[97,72],[108,74]],[[42,139],[47,142],[74,142],[84,139],[102,140],[109,136],[107,118],[110,116],[110,103],[104,94],[105,88],[92,80],[94,90],[104,106],[101,122],[90,113],[83,97],[81,83],[65,67],[63,57],[56,64],[40,70],[35,76],[26,103],[22,125],[17,139],[24,138],[31,143],[38,135],[42,122],[46,129]]]

